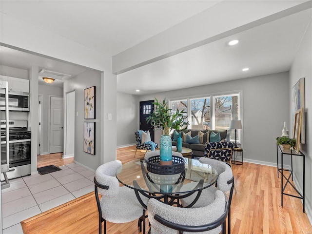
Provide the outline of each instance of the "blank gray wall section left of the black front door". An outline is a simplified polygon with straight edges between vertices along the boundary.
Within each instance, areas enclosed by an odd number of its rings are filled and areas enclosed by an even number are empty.
[[[117,93],[117,147],[136,144],[138,97]]]

